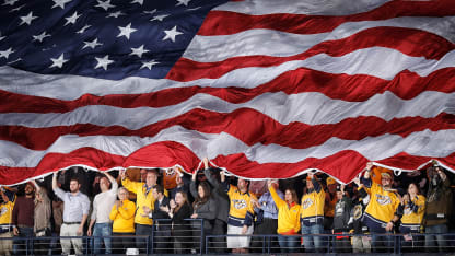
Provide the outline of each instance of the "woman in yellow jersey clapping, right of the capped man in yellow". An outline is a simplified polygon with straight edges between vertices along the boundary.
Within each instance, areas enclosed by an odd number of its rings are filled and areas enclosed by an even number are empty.
[[[420,228],[425,212],[425,197],[420,195],[419,187],[411,183],[408,193],[402,196],[398,211],[402,212],[399,232],[404,235],[402,248],[420,248],[420,237],[412,237],[412,233],[420,233]],[[410,251],[409,251],[410,252]]]

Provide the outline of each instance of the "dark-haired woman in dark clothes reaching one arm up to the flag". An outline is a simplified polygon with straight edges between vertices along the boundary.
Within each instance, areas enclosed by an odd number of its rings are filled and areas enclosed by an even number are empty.
[[[203,181],[199,183],[196,190],[196,179],[198,171],[195,171],[189,185],[189,190],[195,199],[192,202],[194,213],[191,219],[201,219],[202,223],[196,221],[192,222],[194,236],[196,238],[196,247],[206,247],[206,235],[210,235],[213,230],[213,221],[217,217],[217,201],[211,196],[211,189],[209,184]],[[201,226],[203,226],[203,230]],[[200,238],[199,238],[200,237]],[[200,252],[201,254],[203,252]]]

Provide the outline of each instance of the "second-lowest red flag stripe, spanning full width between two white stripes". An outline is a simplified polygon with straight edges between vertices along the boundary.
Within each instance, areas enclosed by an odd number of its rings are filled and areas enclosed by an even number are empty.
[[[214,113],[192,109],[180,116],[129,130],[120,126],[100,127],[90,124],[58,126],[50,128],[26,128],[20,126],[0,126],[0,139],[8,140],[33,150],[46,150],[60,136],[138,136],[153,137],[172,126],[182,126],[188,130],[203,133],[226,132],[248,146],[256,143],[280,144],[292,149],[305,149],[319,146],[330,138],[361,140],[386,133],[407,137],[411,132],[430,129],[433,131],[455,129],[455,116],[442,113],[434,118],[405,117],[385,121],[377,117],[347,118],[338,124],[308,126],[302,123],[282,125],[271,117],[249,108],[233,113]],[[248,124],[245,126],[245,124]],[[294,138],[299,138],[295,140]]]

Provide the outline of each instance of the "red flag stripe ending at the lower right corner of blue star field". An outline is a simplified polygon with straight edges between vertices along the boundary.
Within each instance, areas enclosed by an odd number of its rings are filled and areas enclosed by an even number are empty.
[[[438,47],[434,47],[434,45],[438,45]],[[339,40],[323,42],[302,54],[288,57],[242,56],[217,62],[198,62],[180,58],[166,78],[175,81],[191,81],[203,78],[217,79],[241,68],[273,67],[292,60],[304,60],[319,54],[340,57],[370,47],[386,47],[399,50],[408,56],[441,59],[446,53],[453,50],[455,45],[441,36],[419,30],[374,27]]]

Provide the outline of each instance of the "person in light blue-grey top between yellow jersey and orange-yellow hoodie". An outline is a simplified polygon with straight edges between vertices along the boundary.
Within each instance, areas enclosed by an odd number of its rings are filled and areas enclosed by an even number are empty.
[[[281,199],[283,199],[284,194],[278,189],[279,187],[278,179],[271,179],[271,186],[273,187],[277,195]],[[278,208],[273,201],[273,198],[269,189],[265,194],[262,194],[262,196],[260,196],[258,201],[255,201],[255,213],[257,216],[257,221],[256,221],[254,234],[276,235],[277,230],[278,230]],[[300,223],[299,223],[299,226],[300,226]],[[272,248],[278,247],[278,244],[276,244],[275,238],[272,237],[271,240],[272,240],[271,242]],[[253,237],[252,243],[253,243],[254,248],[260,248],[260,252],[262,252],[264,245],[262,245],[261,237]]]

